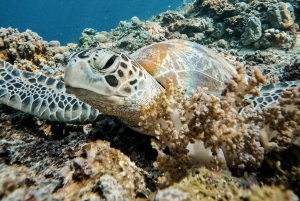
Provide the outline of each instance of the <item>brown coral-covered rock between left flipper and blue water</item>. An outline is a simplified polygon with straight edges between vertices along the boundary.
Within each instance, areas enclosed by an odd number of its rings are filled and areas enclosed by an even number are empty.
[[[59,78],[72,48],[72,44],[60,46],[59,41],[48,43],[29,29],[23,33],[13,28],[0,29],[0,58],[22,70]]]

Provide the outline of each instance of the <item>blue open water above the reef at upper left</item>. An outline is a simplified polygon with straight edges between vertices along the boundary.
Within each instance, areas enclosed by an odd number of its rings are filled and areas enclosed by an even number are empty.
[[[121,20],[141,20],[175,10],[182,0],[6,0],[1,1],[0,27],[31,29],[44,40],[62,45],[78,42],[85,28],[109,31]]]

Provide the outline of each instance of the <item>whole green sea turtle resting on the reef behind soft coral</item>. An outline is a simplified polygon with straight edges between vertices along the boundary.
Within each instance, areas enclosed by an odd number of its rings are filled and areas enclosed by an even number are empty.
[[[152,44],[131,57],[91,48],[70,56],[65,83],[0,61],[0,102],[41,119],[67,123],[92,122],[102,112],[140,131],[141,104],[164,90],[168,77],[189,91],[205,86],[208,92],[220,94],[224,81],[235,73],[231,64],[210,49],[184,40]],[[275,89],[274,85],[265,88],[271,98],[263,104],[274,101],[272,97],[279,93]]]

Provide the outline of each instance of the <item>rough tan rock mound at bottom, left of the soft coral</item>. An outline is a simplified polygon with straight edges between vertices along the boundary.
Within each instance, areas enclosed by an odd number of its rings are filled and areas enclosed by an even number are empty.
[[[66,150],[67,151],[67,150]],[[70,152],[70,150],[68,150]],[[64,186],[56,196],[78,200],[104,195],[106,199],[133,200],[138,191],[147,192],[144,174],[147,174],[109,143],[97,141],[81,145],[56,177]]]

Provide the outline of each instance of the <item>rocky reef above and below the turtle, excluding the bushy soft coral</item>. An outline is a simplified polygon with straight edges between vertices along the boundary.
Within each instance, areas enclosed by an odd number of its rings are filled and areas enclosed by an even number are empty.
[[[300,80],[299,13],[299,1],[196,0],[147,21],[137,17],[121,21],[110,32],[87,28],[78,45],[67,46],[44,41],[30,30],[1,28],[0,59],[63,80],[68,57],[76,50],[100,46],[130,54],[154,42],[184,39],[243,64],[249,75],[258,67],[266,77]],[[91,125],[66,125],[1,105],[0,199],[298,200],[300,196],[300,148],[289,136],[279,135],[272,141],[276,146],[252,153],[255,166],[240,161],[246,168],[228,170],[180,167],[182,162],[176,163],[170,151],[168,158],[158,157],[163,153],[155,142],[113,117],[102,116]],[[162,151],[168,155],[168,150]],[[162,177],[168,173],[178,177]]]

